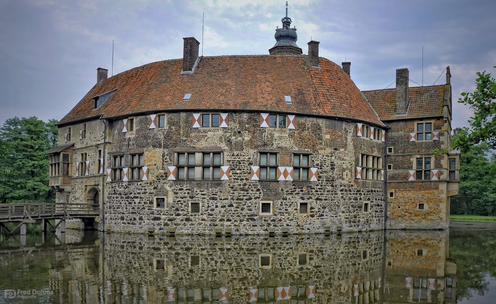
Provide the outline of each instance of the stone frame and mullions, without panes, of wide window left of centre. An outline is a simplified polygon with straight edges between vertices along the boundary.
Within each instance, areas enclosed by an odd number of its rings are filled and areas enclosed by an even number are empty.
[[[184,163],[180,163],[180,155],[184,154]],[[204,154],[210,154],[210,165],[204,164]],[[220,164],[213,164],[214,154],[220,154]],[[190,155],[194,159],[194,164],[190,163]],[[174,152],[174,166],[177,170],[178,181],[220,181],[222,172],[221,167],[224,166],[225,154],[224,151],[176,151]],[[204,168],[210,168],[209,179],[204,179]],[[214,171],[217,169],[219,178],[214,179]],[[190,178],[188,172],[194,172],[194,177]],[[183,178],[181,178],[181,173]]]

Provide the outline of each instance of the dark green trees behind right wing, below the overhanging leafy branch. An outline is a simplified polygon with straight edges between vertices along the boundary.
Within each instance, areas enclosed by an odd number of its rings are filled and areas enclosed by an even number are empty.
[[[463,130],[453,131],[453,141],[463,136]],[[451,197],[452,214],[496,215],[496,154],[489,154],[486,142],[462,149],[459,191]]]

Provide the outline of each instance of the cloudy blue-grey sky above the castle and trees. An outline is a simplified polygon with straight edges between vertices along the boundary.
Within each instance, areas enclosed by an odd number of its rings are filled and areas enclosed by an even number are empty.
[[[284,10],[283,0],[0,0],[0,123],[62,119],[97,67],[110,76],[113,39],[114,74],[182,58],[183,37],[201,42],[204,11],[204,56],[268,54]],[[424,45],[425,85],[451,67],[454,127],[471,115],[456,101],[474,89],[475,72],[496,74],[495,11],[494,0],[289,1],[304,53],[313,38],[320,56],[351,61],[361,90],[385,88],[400,67],[422,83]]]

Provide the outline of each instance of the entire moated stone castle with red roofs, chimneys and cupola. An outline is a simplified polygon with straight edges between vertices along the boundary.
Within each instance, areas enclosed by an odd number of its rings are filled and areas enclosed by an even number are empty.
[[[302,54],[291,22],[270,55],[199,57],[188,37],[182,59],[98,68],[49,152],[57,202],[119,232],[447,228],[449,67],[444,85],[409,87],[398,69],[395,89],[361,92],[319,42]]]

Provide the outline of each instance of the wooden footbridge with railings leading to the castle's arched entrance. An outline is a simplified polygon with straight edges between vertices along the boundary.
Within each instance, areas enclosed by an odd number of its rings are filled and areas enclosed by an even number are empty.
[[[60,204],[60,203],[12,203],[0,204],[0,229],[9,235],[19,228],[21,235],[26,234],[26,223],[41,221],[42,231],[47,231],[47,226],[55,231],[59,226],[65,232],[65,220],[95,218],[100,215],[98,204]],[[56,220],[53,226],[49,220]],[[19,223],[14,229],[9,230],[5,223]]]

